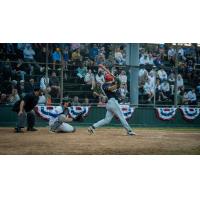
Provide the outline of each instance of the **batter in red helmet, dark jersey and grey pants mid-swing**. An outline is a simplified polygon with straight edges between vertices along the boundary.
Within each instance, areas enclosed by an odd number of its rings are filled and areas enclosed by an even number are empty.
[[[102,85],[102,90],[108,98],[108,102],[106,104],[106,116],[104,119],[94,123],[92,126],[88,128],[88,132],[93,134],[95,129],[106,124],[109,124],[113,118],[113,116],[118,117],[123,127],[126,129],[128,135],[135,135],[132,131],[131,127],[127,123],[118,103],[118,88],[120,83],[114,79],[113,75],[107,73],[105,76],[105,83]]]

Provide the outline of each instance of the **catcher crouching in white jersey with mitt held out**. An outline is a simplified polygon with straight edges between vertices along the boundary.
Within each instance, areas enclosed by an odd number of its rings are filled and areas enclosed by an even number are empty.
[[[75,119],[69,118],[68,107],[71,106],[71,102],[69,100],[64,99],[62,102],[62,106],[58,106],[52,115],[50,115],[49,119],[49,132],[51,133],[72,133],[75,132],[75,127],[68,124],[72,121],[82,121],[83,115],[80,113]]]

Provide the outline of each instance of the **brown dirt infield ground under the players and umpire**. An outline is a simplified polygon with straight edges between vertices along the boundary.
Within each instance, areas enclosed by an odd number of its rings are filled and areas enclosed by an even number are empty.
[[[200,129],[136,129],[127,136],[122,128],[101,128],[88,135],[87,128],[75,133],[52,134],[47,128],[16,134],[0,128],[0,154],[200,154]]]

